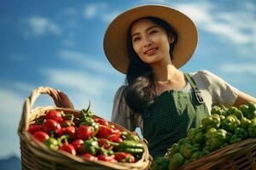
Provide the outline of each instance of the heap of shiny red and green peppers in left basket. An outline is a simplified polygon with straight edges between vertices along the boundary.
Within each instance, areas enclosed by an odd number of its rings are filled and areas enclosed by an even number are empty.
[[[93,116],[90,105],[79,115],[46,111],[27,132],[51,150],[62,150],[87,161],[134,163],[143,155],[143,144],[136,134],[121,131],[107,120]]]

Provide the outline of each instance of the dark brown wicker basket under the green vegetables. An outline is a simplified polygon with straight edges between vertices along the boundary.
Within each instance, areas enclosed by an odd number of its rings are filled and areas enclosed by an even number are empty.
[[[184,164],[178,170],[256,170],[256,139],[245,139]]]

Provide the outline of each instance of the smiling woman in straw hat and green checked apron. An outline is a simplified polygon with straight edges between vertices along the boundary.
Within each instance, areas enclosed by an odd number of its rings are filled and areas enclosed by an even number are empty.
[[[163,156],[190,127],[198,127],[213,105],[256,102],[209,71],[179,71],[196,44],[193,21],[161,5],[131,8],[106,31],[105,54],[126,74],[125,86],[114,97],[112,122],[131,131],[141,127],[154,157]]]

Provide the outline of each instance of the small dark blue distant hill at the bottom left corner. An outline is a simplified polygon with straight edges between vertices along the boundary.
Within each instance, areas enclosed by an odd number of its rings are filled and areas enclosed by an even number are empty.
[[[20,170],[20,158],[18,156],[9,156],[0,160],[1,170]]]

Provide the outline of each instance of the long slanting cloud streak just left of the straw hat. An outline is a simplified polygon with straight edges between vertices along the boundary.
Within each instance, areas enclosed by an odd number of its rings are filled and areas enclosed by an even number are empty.
[[[82,65],[94,71],[101,71],[103,74],[117,74],[117,71],[114,71],[112,66],[96,61],[96,59],[93,59],[93,57],[90,57],[88,54],[72,50],[61,50],[59,55],[61,59],[67,59],[69,62],[73,61],[75,65]]]

